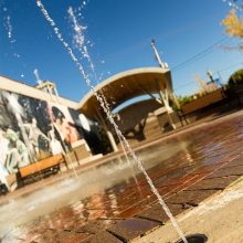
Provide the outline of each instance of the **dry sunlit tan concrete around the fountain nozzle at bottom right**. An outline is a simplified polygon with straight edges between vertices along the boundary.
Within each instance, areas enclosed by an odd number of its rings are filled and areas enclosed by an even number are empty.
[[[207,243],[243,242],[243,177],[199,207],[177,216],[186,235],[204,235]],[[178,242],[170,222],[139,239],[139,243]]]

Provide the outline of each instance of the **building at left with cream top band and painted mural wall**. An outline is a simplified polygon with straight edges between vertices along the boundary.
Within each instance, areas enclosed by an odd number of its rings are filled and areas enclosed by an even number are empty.
[[[83,127],[77,107],[49,81],[32,87],[0,76],[0,173],[15,173],[81,144],[89,149],[83,134],[88,122]]]

